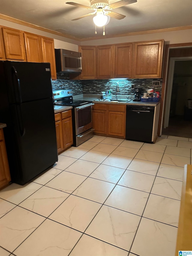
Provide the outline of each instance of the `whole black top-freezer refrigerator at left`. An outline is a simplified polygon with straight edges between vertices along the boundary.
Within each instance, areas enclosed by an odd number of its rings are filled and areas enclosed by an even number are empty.
[[[0,61],[0,122],[12,182],[24,185],[58,161],[49,63]]]

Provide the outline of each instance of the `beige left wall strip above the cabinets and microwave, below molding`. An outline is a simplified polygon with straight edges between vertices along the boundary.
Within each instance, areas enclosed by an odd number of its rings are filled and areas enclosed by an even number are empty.
[[[55,35],[52,33],[44,32],[44,31],[41,31],[38,29],[33,29],[30,27],[23,26],[23,25],[20,25],[20,24],[11,22],[11,21],[3,20],[3,19],[0,19],[0,25],[6,26],[9,28],[13,28],[13,29],[20,29],[22,31],[33,33],[36,35],[42,35],[42,36],[46,36],[49,38],[54,38],[55,48],[63,48],[63,49],[71,50],[71,51],[78,51],[79,41],[76,41],[76,40],[73,40],[70,38],[65,38],[62,36],[58,36],[58,35]]]

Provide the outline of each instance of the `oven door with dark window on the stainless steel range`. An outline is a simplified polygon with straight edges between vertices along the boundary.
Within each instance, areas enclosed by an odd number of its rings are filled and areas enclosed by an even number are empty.
[[[75,129],[76,135],[93,127],[92,107],[93,103],[75,107]]]

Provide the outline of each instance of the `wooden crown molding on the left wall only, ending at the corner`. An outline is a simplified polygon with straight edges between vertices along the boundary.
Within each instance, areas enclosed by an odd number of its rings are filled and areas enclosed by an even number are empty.
[[[0,19],[11,21],[11,22],[23,25],[23,26],[27,26],[27,27],[30,27],[30,28],[33,28],[33,29],[38,29],[38,30],[41,30],[41,31],[44,31],[44,32],[54,34],[54,35],[59,35],[59,36],[62,36],[62,37],[66,37],[66,38],[70,38],[70,39],[73,39],[73,40],[76,40],[76,41],[80,41],[79,38],[73,37],[71,35],[63,34],[63,33],[60,33],[60,32],[57,32],[57,31],[54,31],[54,30],[51,30],[51,29],[46,29],[46,28],[28,23],[26,21],[22,21],[22,20],[18,20],[18,19],[6,16],[4,14],[0,14]]]

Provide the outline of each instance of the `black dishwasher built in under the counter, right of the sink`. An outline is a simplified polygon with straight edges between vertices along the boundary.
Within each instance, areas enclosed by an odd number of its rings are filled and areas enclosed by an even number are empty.
[[[126,140],[152,143],[155,107],[127,105],[126,110]]]

